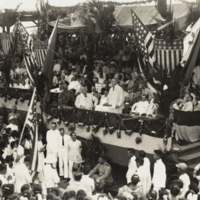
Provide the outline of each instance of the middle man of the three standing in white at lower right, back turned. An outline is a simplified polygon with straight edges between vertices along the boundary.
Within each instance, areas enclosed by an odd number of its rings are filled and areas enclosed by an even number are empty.
[[[146,197],[147,193],[151,188],[151,175],[150,171],[144,166],[144,159],[142,157],[136,158],[137,172],[136,174],[140,177],[140,183],[143,187],[143,197]]]

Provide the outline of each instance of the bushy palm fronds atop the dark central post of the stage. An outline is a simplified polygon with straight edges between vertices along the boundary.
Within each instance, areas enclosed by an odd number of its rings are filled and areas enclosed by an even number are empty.
[[[94,44],[98,45],[98,41],[103,39],[106,34],[112,32],[113,25],[115,24],[114,16],[115,7],[113,5],[104,5],[97,0],[91,0],[81,5],[77,10],[77,16],[82,24],[87,27],[87,71],[88,80],[91,83],[93,74],[93,54]],[[91,84],[88,84],[89,89]]]

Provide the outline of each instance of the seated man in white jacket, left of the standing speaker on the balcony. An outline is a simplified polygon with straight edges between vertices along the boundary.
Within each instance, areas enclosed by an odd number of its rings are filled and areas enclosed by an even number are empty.
[[[82,87],[80,92],[81,94],[76,97],[75,106],[81,109],[92,110],[98,104],[98,99],[91,93],[87,93],[86,87]]]

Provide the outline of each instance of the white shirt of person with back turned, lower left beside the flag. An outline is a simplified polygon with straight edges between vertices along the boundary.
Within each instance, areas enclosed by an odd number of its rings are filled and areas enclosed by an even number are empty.
[[[21,187],[24,184],[30,184],[32,182],[31,175],[24,163],[17,165],[14,169],[14,173],[15,173],[15,192],[21,193]]]

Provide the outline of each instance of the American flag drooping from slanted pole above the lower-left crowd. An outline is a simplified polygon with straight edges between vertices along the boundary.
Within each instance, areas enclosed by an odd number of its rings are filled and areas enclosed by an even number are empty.
[[[37,91],[36,88],[33,90],[33,95],[31,98],[30,106],[27,112],[26,120],[24,123],[24,127],[20,136],[20,142],[24,134],[25,127],[28,126],[30,128],[31,136],[32,136],[32,155],[33,160],[31,163],[31,171],[38,171],[38,119],[37,119]]]

